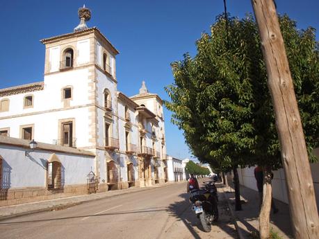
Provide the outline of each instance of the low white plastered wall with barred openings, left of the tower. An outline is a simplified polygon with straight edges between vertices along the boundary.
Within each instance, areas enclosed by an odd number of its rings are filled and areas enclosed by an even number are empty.
[[[17,146],[0,145],[3,188],[46,186],[47,160],[53,152],[35,150],[26,156],[25,151]],[[86,184],[86,176],[95,165],[94,157],[63,152],[56,152],[56,155],[62,164],[64,186]]]

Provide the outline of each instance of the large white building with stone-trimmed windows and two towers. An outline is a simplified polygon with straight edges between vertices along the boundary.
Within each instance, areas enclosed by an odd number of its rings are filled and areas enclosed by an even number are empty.
[[[85,12],[85,14],[83,14]],[[115,46],[88,28],[42,39],[44,80],[0,89],[0,134],[87,150],[99,191],[165,182],[163,101],[117,91]]]

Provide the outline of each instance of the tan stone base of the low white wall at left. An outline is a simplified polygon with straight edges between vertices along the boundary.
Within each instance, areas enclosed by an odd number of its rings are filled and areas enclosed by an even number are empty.
[[[70,197],[75,195],[88,194],[86,184],[76,184],[65,186],[61,189],[48,190],[42,187],[28,188],[1,188],[0,206],[10,206],[28,202],[38,202],[53,200],[60,197]]]

